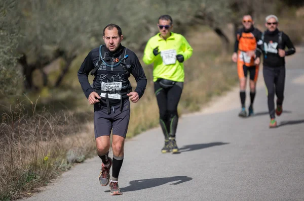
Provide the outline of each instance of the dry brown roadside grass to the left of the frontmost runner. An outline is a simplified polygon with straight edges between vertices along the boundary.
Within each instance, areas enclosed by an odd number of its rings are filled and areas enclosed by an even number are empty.
[[[92,156],[94,137],[82,133],[90,118],[70,112],[24,115],[19,103],[3,114],[0,125],[0,200],[17,199]],[[80,133],[75,136],[75,133]]]

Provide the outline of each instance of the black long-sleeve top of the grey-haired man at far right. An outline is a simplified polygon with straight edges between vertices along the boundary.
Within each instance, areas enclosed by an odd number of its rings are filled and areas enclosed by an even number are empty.
[[[285,57],[279,56],[278,49],[285,49],[287,46],[288,49],[285,51],[285,56],[292,55],[295,53],[295,47],[291,42],[288,35],[282,32],[282,40],[279,41],[280,31],[276,29],[275,31],[265,31],[263,44],[260,45],[262,53],[264,55],[263,65],[268,67],[281,67],[285,66]]]

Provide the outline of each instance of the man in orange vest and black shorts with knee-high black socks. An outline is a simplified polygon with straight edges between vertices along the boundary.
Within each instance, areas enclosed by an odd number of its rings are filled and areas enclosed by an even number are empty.
[[[238,30],[235,51],[232,55],[233,62],[237,63],[238,75],[240,80],[240,98],[242,110],[239,113],[240,117],[247,117],[245,109],[246,99],[246,82],[247,73],[250,77],[250,106],[248,108],[248,116],[252,116],[253,102],[255,97],[255,85],[258,76],[260,59],[256,55],[256,51],[261,52],[258,44],[261,43],[261,31],[253,26],[254,21],[250,15],[243,17],[243,27]],[[259,54],[260,55],[260,54]]]

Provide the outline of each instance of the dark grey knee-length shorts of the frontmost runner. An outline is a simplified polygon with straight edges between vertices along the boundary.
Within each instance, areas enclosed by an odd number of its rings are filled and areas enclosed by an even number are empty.
[[[119,135],[126,138],[130,121],[130,101],[124,101],[122,112],[120,105],[110,107],[111,113],[107,113],[107,108],[100,104],[94,105],[94,131],[95,139],[100,136]]]

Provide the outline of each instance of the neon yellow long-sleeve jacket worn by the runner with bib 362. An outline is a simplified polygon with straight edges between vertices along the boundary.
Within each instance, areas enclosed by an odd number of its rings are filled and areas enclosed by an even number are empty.
[[[158,78],[169,79],[176,82],[184,81],[184,65],[176,60],[175,64],[165,65],[161,54],[154,56],[153,49],[159,48],[159,52],[166,49],[175,49],[176,55],[182,55],[184,61],[188,60],[193,53],[193,48],[189,45],[184,36],[178,33],[171,32],[171,36],[164,40],[160,37],[160,33],[151,37],[144,49],[143,62],[145,64],[151,64],[154,62],[153,68],[153,81]]]

